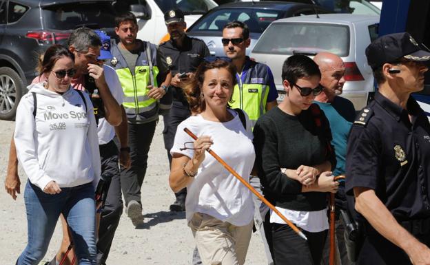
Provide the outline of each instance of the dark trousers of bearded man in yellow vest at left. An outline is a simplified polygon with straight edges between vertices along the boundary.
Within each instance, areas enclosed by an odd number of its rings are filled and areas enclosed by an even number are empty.
[[[128,124],[128,145],[132,166],[129,169],[121,167],[121,187],[126,206],[131,200],[142,204],[141,187],[156,123],[157,121],[154,120],[150,123]]]

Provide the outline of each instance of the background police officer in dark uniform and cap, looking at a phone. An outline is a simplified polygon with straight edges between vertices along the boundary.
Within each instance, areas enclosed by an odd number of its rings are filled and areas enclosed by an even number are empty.
[[[170,113],[164,116],[163,136],[167,156],[169,162],[172,163],[170,149],[173,146],[176,127],[191,115],[182,88],[194,76],[194,72],[201,61],[210,54],[203,41],[190,38],[185,34],[187,24],[181,10],[168,10],[164,14],[164,20],[167,25],[167,32],[170,34],[170,40],[162,43],[159,48],[165,55],[167,65],[169,65],[173,76],[169,87],[173,92],[173,105]],[[170,211],[185,211],[186,195],[186,188],[175,193],[176,201],[170,205]]]

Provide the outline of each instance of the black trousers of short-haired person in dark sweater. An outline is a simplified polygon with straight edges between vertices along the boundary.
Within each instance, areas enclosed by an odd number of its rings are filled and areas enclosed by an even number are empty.
[[[302,230],[306,241],[287,224],[271,224],[270,212],[265,217],[264,229],[275,265],[320,265],[328,230],[318,233]]]

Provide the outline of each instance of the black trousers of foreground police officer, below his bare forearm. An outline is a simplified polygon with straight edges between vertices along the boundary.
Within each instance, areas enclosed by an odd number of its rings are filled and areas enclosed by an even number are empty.
[[[414,235],[422,244],[430,247],[430,233]],[[401,248],[382,237],[379,233],[369,233],[358,256],[357,265],[411,265],[411,260]]]

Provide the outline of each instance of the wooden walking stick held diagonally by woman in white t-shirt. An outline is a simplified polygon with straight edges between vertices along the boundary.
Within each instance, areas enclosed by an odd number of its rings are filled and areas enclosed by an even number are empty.
[[[191,136],[194,140],[197,140],[197,136],[195,134],[193,134],[189,129],[184,128],[184,131],[189,136]],[[252,193],[254,193],[262,202],[264,202],[267,206],[269,206],[269,208],[272,209],[272,211],[274,211],[282,220],[284,220],[284,222],[286,224],[288,224],[289,227],[291,227],[291,229],[294,230],[294,232],[296,232],[298,235],[300,235],[300,237],[302,237],[304,240],[307,240],[307,237],[305,236],[305,234],[303,234],[302,231],[298,230],[297,226],[295,226],[292,222],[290,222],[287,218],[285,218],[285,216],[282,213],[280,213],[278,211],[278,209],[276,209],[275,206],[273,206],[273,204],[271,204],[268,200],[266,200],[263,197],[263,195],[258,193],[258,191],[256,191],[256,189],[254,189],[254,187],[252,187],[248,182],[246,182],[236,171],[234,171],[234,169],[232,169],[232,167],[227,165],[227,163],[222,158],[220,158],[210,148],[206,149],[206,151],[208,151],[218,162],[220,162],[221,165],[223,165],[223,167],[225,167],[225,169],[227,169],[230,173],[232,173],[233,176],[235,176],[240,182],[242,182],[242,184],[244,184],[245,187],[247,187],[250,191],[252,191]]]

